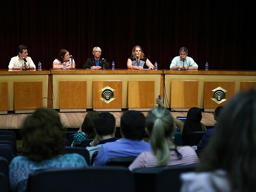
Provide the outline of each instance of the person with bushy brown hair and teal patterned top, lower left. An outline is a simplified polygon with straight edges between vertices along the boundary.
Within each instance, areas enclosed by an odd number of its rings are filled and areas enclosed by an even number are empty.
[[[66,129],[54,109],[38,108],[25,119],[20,134],[23,155],[14,157],[9,164],[12,192],[26,191],[28,176],[33,171],[87,166],[83,156],[63,154]]]

